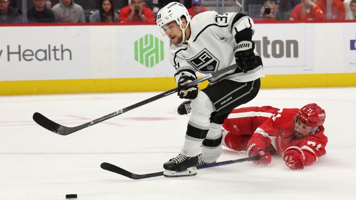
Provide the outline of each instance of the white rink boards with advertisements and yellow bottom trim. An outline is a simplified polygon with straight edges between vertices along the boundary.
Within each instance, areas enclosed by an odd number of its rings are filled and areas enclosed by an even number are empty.
[[[266,74],[262,88],[356,86],[356,23],[258,23],[255,28]],[[5,26],[0,37],[0,95],[176,86],[169,40],[155,25]]]

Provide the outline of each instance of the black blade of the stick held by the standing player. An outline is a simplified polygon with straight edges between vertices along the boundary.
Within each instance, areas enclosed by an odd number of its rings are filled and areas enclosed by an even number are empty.
[[[47,130],[57,133],[59,135],[68,135],[71,133],[70,131],[68,131],[70,130],[69,127],[59,125],[58,123],[43,116],[41,113],[35,112],[32,116],[32,119],[43,128],[46,128]]]

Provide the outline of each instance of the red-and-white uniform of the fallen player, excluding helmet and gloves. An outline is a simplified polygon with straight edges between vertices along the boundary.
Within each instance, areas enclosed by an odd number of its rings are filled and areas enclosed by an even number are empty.
[[[298,146],[305,154],[305,165],[311,165],[325,154],[328,138],[324,135],[323,126],[319,126],[319,130],[312,135],[295,138],[294,118],[298,111],[299,109],[277,109],[271,106],[234,109],[223,124],[223,128],[229,131],[224,142],[228,147],[229,144],[236,145],[234,136],[237,138],[236,136],[253,133],[243,150],[255,143],[271,153],[275,150],[283,156],[288,147]]]

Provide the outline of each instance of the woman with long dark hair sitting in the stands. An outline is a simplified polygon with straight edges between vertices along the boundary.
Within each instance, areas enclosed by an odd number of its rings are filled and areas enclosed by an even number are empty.
[[[90,15],[90,22],[118,22],[119,15],[114,11],[112,0],[99,0],[100,8]]]

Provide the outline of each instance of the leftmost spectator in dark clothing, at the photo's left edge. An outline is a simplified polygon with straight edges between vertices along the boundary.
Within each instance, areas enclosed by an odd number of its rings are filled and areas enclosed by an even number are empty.
[[[10,0],[0,0],[0,23],[22,22],[22,12],[11,7]]]

